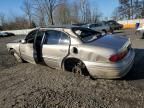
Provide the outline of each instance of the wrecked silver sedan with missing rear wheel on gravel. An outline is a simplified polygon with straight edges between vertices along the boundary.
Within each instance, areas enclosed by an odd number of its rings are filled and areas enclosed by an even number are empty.
[[[35,29],[7,48],[19,62],[46,64],[93,78],[121,78],[135,57],[130,39],[74,26]]]

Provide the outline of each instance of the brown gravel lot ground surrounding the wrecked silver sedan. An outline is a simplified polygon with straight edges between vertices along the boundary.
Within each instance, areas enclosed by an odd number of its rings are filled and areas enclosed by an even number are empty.
[[[135,64],[118,80],[92,80],[42,65],[18,64],[0,39],[0,108],[142,108],[144,106],[144,40],[134,30],[115,35],[131,38]]]

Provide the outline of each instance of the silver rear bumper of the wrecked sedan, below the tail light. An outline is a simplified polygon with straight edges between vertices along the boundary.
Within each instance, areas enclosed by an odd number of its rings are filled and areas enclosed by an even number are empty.
[[[135,52],[130,50],[118,63],[84,62],[90,75],[94,78],[116,79],[125,76],[134,64]]]

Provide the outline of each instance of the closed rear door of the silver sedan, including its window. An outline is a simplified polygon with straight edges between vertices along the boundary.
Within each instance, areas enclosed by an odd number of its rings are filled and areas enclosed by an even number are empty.
[[[42,55],[45,63],[52,68],[60,68],[69,53],[70,38],[67,34],[49,30],[45,32]]]

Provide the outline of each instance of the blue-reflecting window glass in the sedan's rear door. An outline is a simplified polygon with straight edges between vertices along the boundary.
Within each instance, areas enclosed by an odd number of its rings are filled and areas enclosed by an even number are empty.
[[[45,44],[69,44],[69,37],[63,32],[51,30],[46,31],[45,35]]]

